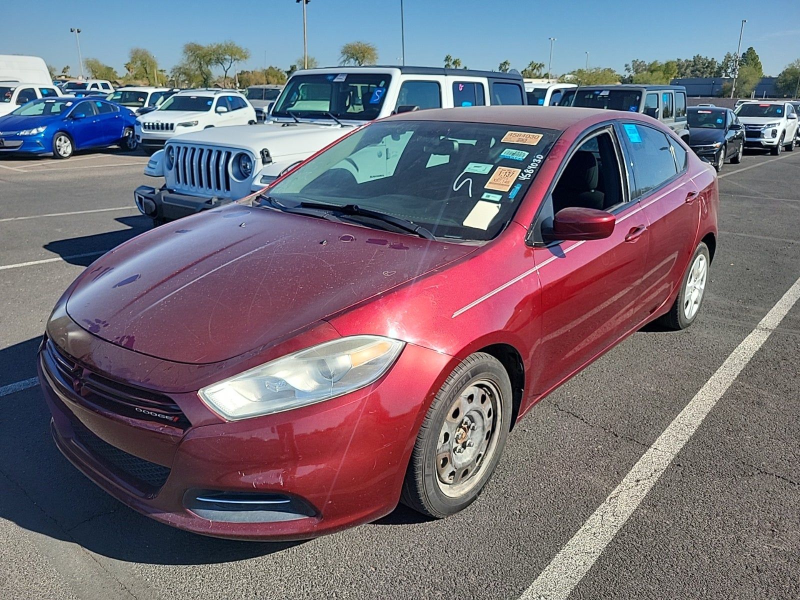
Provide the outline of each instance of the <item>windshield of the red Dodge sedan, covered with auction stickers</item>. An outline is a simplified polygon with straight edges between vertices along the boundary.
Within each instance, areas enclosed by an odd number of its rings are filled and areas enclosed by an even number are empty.
[[[488,123],[375,122],[267,194],[290,207],[357,205],[437,238],[486,241],[514,216],[558,134]],[[368,218],[359,224],[386,227]]]

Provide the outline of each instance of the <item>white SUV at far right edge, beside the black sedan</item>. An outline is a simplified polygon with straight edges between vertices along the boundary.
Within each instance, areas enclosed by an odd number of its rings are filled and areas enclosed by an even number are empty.
[[[800,121],[791,102],[745,102],[734,112],[745,126],[746,148],[766,148],[776,156],[794,150]]]

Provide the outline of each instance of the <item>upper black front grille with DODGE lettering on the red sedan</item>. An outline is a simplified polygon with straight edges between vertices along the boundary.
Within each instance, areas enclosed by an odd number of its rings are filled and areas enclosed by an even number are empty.
[[[45,345],[44,366],[65,390],[77,394],[83,402],[116,414],[143,421],[157,422],[185,430],[189,419],[170,398],[150,390],[115,382],[84,369],[50,339]]]

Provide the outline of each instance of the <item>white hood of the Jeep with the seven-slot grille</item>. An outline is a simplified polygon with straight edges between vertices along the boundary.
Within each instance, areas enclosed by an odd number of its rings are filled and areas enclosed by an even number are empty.
[[[347,126],[270,122],[212,127],[175,136],[172,141],[250,150],[255,156],[258,156],[262,148],[266,148],[275,160],[286,154],[311,154],[322,150],[352,130],[353,127]]]

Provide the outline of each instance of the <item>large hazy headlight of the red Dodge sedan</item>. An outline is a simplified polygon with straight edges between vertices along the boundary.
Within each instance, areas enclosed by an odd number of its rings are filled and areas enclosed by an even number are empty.
[[[340,338],[206,386],[198,395],[230,421],[279,413],[370,385],[389,370],[404,346],[377,335]]]

